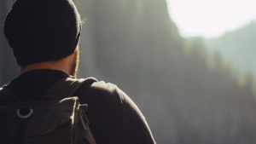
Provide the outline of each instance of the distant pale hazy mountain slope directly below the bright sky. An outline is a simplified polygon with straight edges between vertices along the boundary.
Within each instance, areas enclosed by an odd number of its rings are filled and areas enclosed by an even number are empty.
[[[240,72],[251,72],[256,78],[256,21],[242,26],[236,31],[227,32],[222,37],[204,39],[207,49],[218,51],[227,62]]]

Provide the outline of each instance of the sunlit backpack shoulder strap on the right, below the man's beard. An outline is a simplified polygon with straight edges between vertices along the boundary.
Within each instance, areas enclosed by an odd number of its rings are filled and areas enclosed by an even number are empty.
[[[97,82],[96,78],[63,78],[48,90],[50,95],[55,95],[57,99],[63,99],[72,96],[80,85],[84,84],[86,87],[90,87],[94,82]]]

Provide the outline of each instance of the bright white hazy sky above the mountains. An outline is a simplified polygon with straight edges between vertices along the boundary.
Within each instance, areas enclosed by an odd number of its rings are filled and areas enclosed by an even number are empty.
[[[256,0],[166,0],[185,37],[218,37],[256,20]]]

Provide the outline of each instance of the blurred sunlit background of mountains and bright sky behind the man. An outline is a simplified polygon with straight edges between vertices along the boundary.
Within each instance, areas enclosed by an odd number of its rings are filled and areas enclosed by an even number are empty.
[[[157,143],[256,143],[256,1],[73,1],[79,78],[117,84]],[[0,1],[1,26],[14,2]],[[0,84],[18,74],[1,28]]]

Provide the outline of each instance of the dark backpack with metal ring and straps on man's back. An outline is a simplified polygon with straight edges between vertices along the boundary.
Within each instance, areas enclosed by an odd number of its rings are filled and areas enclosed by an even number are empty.
[[[81,84],[94,78],[64,78],[49,95],[20,101],[9,89],[0,89],[0,144],[96,144],[85,112],[87,105],[73,96]],[[87,87],[87,88],[88,88]]]

